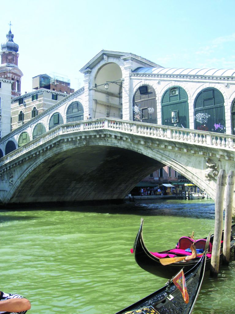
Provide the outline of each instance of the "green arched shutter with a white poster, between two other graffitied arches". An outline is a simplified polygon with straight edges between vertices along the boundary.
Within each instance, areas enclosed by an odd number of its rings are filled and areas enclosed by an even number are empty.
[[[179,86],[168,88],[162,97],[162,124],[189,128],[189,103],[186,91]]]

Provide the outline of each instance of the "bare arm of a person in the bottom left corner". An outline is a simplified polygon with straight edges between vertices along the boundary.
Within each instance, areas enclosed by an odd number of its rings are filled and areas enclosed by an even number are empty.
[[[28,299],[25,298],[13,298],[3,300],[0,302],[0,311],[6,312],[21,312],[27,311],[31,308],[31,304]]]

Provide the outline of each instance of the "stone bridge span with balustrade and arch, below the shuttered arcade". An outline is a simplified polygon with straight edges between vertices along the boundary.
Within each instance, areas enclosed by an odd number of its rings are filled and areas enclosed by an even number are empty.
[[[218,171],[235,170],[234,140],[121,119],[64,123],[1,158],[1,203],[123,199],[164,165],[215,199]]]

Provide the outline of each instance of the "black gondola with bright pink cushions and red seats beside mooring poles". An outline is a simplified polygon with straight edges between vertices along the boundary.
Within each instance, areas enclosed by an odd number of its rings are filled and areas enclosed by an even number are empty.
[[[185,248],[184,250],[181,250],[180,248],[178,249],[174,248],[174,249],[169,249],[163,252],[150,252],[145,246],[142,231],[143,231],[143,219],[141,219],[141,225],[140,225],[138,234],[136,236],[136,240],[133,247],[133,253],[135,256],[136,263],[147,272],[152,273],[159,277],[169,278],[169,276],[172,276],[175,273],[179,272],[179,270],[183,266],[184,266],[184,270],[188,271],[198,262],[199,257],[188,260],[187,262],[183,260],[183,261],[171,263],[169,265],[162,265],[160,263],[160,259],[162,258],[164,259],[164,258],[169,258],[169,257],[180,257],[187,254],[190,255],[191,253],[187,253],[185,251]],[[234,239],[235,239],[235,235],[233,232],[235,232],[235,224],[232,225],[231,249],[232,247],[234,247]],[[212,248],[213,238],[214,238],[214,235],[211,235],[209,251],[211,251],[211,248]],[[186,240],[190,241],[189,237],[181,237],[180,239],[182,239],[183,243]],[[203,245],[205,247],[205,243],[206,243],[206,239],[197,240],[196,248],[198,248],[199,246],[203,248]],[[190,247],[190,245],[188,245],[187,247]],[[221,256],[222,256],[222,249],[221,249]],[[206,270],[210,268],[210,264],[211,264],[211,254],[207,253]]]

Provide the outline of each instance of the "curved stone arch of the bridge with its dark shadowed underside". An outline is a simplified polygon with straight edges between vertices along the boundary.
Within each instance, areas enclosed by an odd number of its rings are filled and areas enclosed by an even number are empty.
[[[64,138],[40,158],[29,160],[19,165],[9,203],[123,199],[144,176],[164,165],[211,194],[209,182],[202,180],[203,171],[182,163],[182,154],[112,137]]]

